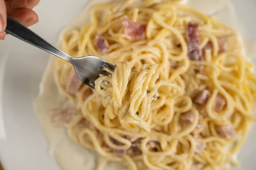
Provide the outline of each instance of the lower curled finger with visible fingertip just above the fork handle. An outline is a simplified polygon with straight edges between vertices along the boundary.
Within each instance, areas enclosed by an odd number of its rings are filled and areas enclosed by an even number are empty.
[[[26,27],[38,23],[38,15],[32,9],[17,9],[15,11],[10,12],[8,15]]]

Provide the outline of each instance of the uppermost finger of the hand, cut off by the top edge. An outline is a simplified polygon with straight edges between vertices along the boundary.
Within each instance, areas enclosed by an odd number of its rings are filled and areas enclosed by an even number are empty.
[[[20,8],[33,9],[40,0],[8,0],[6,1],[7,13]]]

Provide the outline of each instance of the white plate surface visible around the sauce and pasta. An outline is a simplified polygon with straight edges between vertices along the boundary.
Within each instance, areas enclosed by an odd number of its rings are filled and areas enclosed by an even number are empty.
[[[87,1],[42,0],[35,8],[40,22],[31,29],[54,44],[61,28],[79,14]],[[246,39],[256,39],[256,1],[231,1],[245,28],[241,34]],[[3,111],[6,135],[5,139],[0,139],[0,160],[5,170],[60,169],[55,160],[48,156],[47,142],[32,105],[48,59],[49,54],[46,52],[11,36],[0,41],[0,112]],[[253,170],[256,167],[254,134],[255,125],[239,154],[242,170]]]

